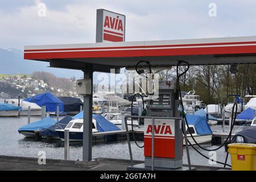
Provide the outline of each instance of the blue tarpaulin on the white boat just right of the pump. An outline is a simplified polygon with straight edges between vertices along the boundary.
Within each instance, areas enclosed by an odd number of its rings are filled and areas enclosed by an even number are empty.
[[[199,135],[210,135],[212,130],[210,129],[206,117],[201,117],[199,115],[187,114],[188,125],[194,125],[197,134]]]

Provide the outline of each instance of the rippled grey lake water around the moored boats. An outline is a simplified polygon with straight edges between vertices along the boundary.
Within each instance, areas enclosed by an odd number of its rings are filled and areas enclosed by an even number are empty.
[[[31,122],[40,120],[40,117],[31,117]],[[0,118],[0,155],[10,156],[27,156],[38,157],[39,151],[45,151],[48,159],[64,159],[64,147],[59,140],[50,142],[48,140],[36,141],[34,139],[27,139],[22,134],[18,133],[21,126],[27,124],[27,117],[1,117]],[[212,130],[222,131],[221,126],[211,126]],[[238,129],[239,127],[237,127]],[[228,126],[226,126],[228,130]],[[211,144],[204,144],[205,148],[216,148]],[[138,148],[132,142],[133,158],[134,160],[144,160],[143,148]],[[203,154],[209,156],[209,152],[196,148]],[[199,155],[192,147],[189,147],[192,164],[199,164],[210,166],[208,159]],[[93,158],[118,158],[129,159],[129,150],[127,142],[97,144],[93,146]],[[225,161],[226,152],[224,147],[217,151],[217,160]],[[82,146],[78,144],[70,147],[71,160],[82,159]],[[183,163],[187,164],[187,156],[184,148]],[[230,156],[228,158],[230,164]],[[216,164],[213,166],[222,166]]]

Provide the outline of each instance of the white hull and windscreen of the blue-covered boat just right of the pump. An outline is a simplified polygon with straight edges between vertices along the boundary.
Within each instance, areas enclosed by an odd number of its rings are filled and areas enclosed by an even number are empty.
[[[189,126],[189,130],[191,131],[193,138],[196,140],[197,143],[199,143],[199,144],[208,143],[212,140],[212,135],[199,135],[196,132],[195,126],[193,126],[193,125],[188,125],[188,126]],[[191,134],[188,131],[187,125],[186,125],[186,131],[187,131],[187,138],[188,138],[189,142],[192,145],[196,144],[194,142],[194,140],[192,139]],[[183,144],[185,145],[185,139],[183,139]]]

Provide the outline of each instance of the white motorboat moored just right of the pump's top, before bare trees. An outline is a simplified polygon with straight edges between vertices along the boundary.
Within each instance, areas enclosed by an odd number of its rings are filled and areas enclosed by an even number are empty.
[[[193,113],[193,111],[195,111],[196,108],[201,109],[202,101],[200,101],[200,96],[195,95],[195,93],[195,90],[189,91],[182,98],[184,109],[187,110],[188,113]]]

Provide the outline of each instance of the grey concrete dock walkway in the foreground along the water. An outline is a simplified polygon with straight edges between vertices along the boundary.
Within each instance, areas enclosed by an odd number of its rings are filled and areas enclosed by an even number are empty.
[[[143,161],[134,161],[140,164]],[[97,158],[92,162],[76,160],[46,159],[46,164],[38,164],[38,158],[0,155],[0,171],[126,171],[130,160]],[[187,165],[184,165],[187,167]],[[194,166],[197,171],[230,170],[230,168]]]

